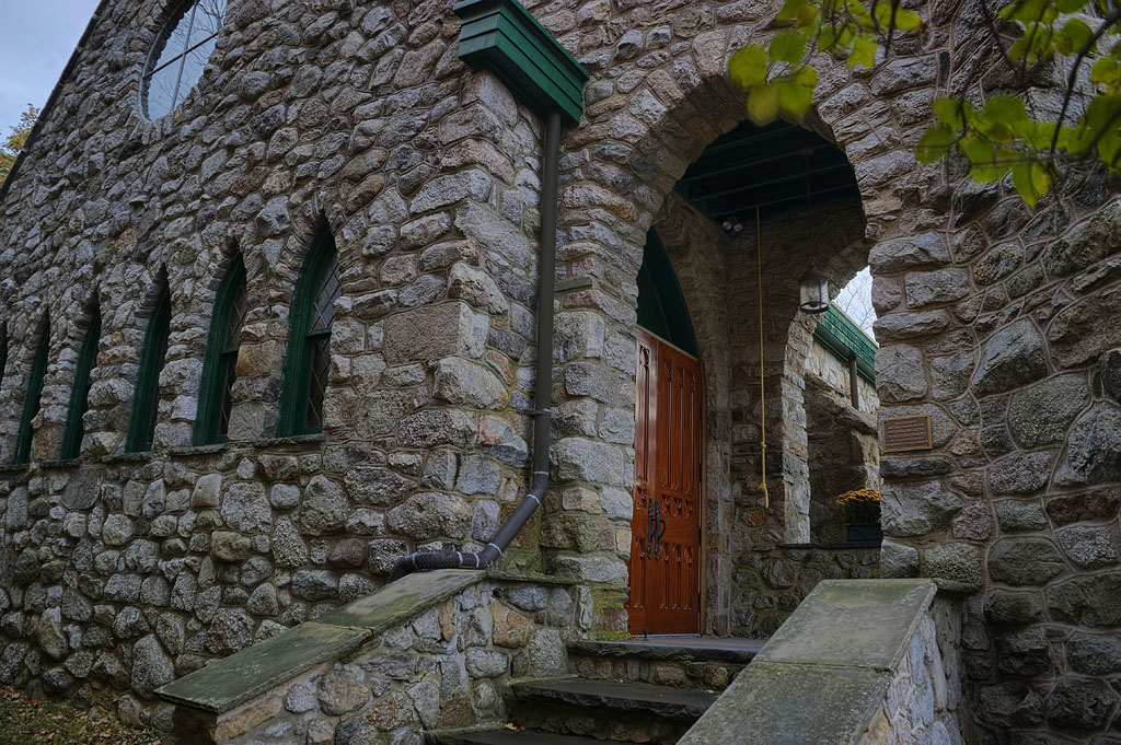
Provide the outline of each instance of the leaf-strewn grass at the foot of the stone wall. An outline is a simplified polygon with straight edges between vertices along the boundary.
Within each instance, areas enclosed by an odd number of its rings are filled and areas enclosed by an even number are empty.
[[[0,745],[160,745],[150,729],[126,727],[59,701],[0,688]]]

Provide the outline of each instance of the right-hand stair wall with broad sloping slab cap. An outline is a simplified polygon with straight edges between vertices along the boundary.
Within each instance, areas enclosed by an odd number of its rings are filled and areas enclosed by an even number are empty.
[[[823,581],[680,745],[957,745],[956,600],[929,580]]]

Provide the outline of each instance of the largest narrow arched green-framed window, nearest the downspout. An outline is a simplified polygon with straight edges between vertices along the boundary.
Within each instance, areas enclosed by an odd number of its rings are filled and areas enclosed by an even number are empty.
[[[304,260],[288,322],[288,353],[277,434],[309,435],[323,430],[323,394],[331,366],[331,322],[339,283],[339,253],[326,229],[316,235]]]

